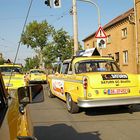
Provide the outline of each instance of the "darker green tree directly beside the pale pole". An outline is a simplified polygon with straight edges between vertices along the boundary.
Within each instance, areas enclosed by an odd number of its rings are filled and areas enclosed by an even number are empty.
[[[56,62],[57,58],[62,61],[73,55],[73,39],[62,28],[53,33],[53,42],[43,50],[46,64]],[[80,45],[81,48],[81,45]]]

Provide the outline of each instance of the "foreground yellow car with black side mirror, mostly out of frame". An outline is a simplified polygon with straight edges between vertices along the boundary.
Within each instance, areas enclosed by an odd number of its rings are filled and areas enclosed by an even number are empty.
[[[20,87],[9,98],[0,73],[0,140],[37,140],[26,106],[43,99],[42,85]]]

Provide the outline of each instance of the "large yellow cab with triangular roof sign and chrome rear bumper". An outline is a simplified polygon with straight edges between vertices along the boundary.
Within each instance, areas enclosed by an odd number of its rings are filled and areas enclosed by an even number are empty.
[[[67,110],[140,104],[140,75],[122,72],[111,57],[96,48],[85,50],[48,75],[49,97],[66,101]]]

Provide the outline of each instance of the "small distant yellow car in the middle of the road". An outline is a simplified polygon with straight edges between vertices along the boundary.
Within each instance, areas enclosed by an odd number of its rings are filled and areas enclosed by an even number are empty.
[[[34,83],[46,84],[47,82],[46,77],[47,75],[43,70],[31,69],[26,76],[26,80],[27,80],[27,83],[29,84],[34,84]]]

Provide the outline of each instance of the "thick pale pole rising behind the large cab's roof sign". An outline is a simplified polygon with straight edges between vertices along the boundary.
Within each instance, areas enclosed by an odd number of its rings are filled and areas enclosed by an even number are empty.
[[[78,51],[78,23],[77,23],[77,4],[76,0],[72,0],[72,14],[73,14],[73,37],[74,37],[74,55]]]

